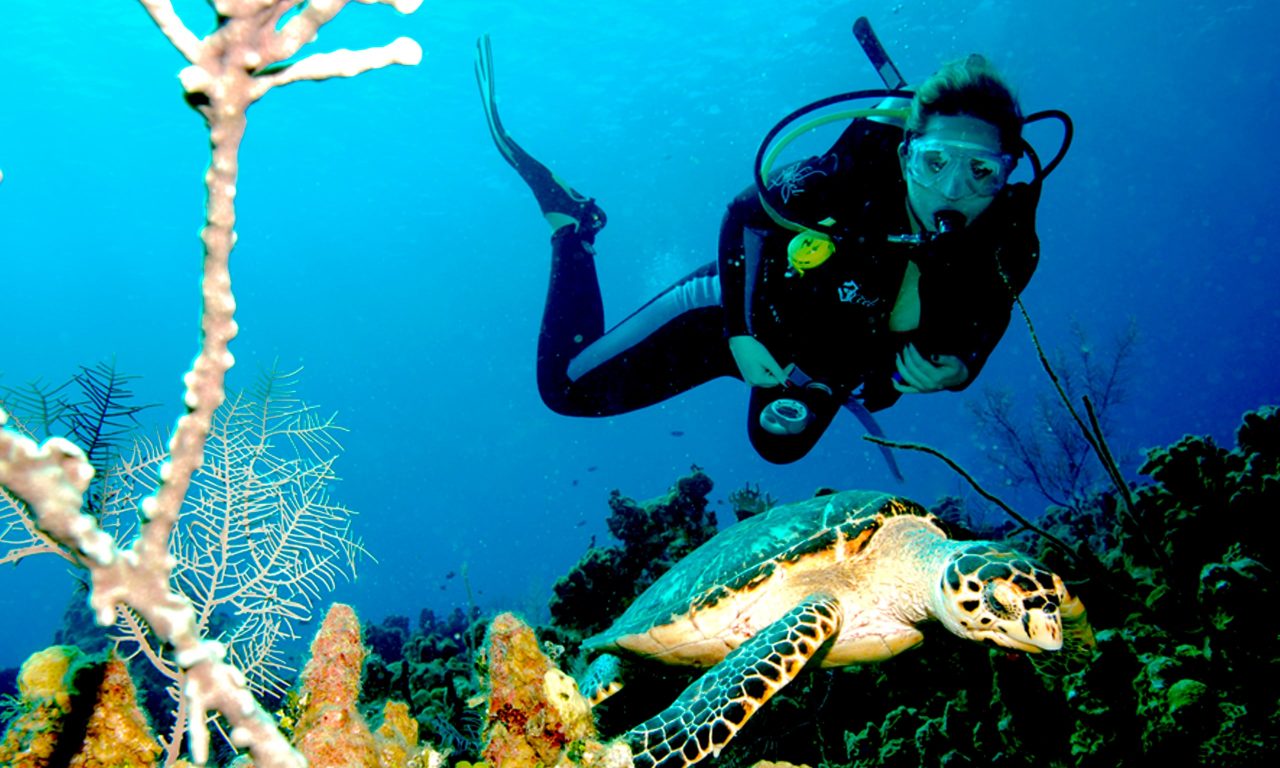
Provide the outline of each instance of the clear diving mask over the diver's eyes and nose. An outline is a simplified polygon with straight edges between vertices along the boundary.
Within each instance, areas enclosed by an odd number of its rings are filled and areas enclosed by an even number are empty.
[[[906,146],[911,180],[950,198],[992,197],[1005,187],[1012,169],[1012,155],[966,141],[916,138]]]

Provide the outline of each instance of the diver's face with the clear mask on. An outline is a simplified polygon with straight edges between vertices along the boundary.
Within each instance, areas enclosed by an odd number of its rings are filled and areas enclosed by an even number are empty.
[[[995,125],[969,115],[933,115],[924,132],[899,147],[906,198],[929,230],[937,215],[960,214],[969,224],[1005,186],[1012,159],[1000,148]]]

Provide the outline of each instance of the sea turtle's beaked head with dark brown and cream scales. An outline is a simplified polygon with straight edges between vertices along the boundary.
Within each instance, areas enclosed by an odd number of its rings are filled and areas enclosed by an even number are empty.
[[[937,598],[937,618],[956,635],[1028,653],[1060,650],[1062,609],[1078,603],[1043,564],[988,541],[947,558]]]

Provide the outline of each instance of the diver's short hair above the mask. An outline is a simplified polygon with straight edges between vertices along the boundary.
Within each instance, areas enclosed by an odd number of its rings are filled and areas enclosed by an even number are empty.
[[[969,115],[1000,132],[1000,146],[1015,157],[1021,154],[1023,110],[996,68],[980,54],[948,61],[915,90],[908,137],[924,132],[933,115]]]

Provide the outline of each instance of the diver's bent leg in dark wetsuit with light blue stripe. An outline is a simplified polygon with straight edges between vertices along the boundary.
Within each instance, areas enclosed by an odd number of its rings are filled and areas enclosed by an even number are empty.
[[[572,236],[559,239],[538,343],[538,390],[548,407],[568,416],[625,413],[737,375],[714,264],[603,333],[590,253],[571,251]]]

